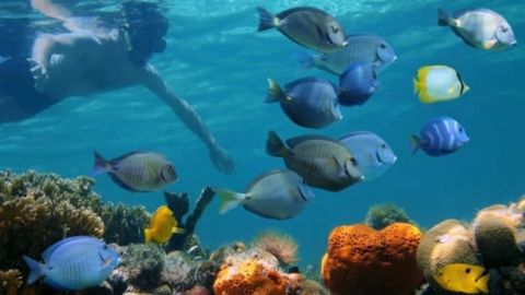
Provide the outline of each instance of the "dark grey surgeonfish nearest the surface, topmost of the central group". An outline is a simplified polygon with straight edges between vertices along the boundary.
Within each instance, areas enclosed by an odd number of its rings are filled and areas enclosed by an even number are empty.
[[[327,12],[311,8],[292,8],[273,15],[262,8],[259,14],[258,31],[277,28],[299,45],[329,52],[347,45],[342,26]]]

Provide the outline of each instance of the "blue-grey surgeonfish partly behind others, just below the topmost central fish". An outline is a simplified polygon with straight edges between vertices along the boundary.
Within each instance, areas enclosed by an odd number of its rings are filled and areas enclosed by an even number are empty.
[[[298,54],[305,68],[316,67],[340,75],[351,63],[369,63],[375,72],[382,71],[396,59],[394,48],[382,37],[372,34],[355,34],[347,37],[348,45],[328,54]]]

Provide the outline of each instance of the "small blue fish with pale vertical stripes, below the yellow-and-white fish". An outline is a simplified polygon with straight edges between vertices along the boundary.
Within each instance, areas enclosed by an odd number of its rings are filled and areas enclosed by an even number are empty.
[[[411,135],[412,153],[421,148],[430,156],[454,153],[468,141],[463,126],[448,117],[432,119],[421,129],[419,137]]]

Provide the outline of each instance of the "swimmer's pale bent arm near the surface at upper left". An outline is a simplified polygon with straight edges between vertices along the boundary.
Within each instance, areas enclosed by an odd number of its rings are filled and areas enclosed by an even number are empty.
[[[79,55],[101,44],[93,34],[43,34],[33,44],[32,59],[47,70],[52,55]]]

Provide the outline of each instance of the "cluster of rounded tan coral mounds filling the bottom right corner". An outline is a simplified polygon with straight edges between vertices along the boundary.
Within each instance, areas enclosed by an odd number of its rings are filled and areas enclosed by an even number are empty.
[[[446,220],[425,233],[418,264],[429,282],[424,294],[463,294],[443,290],[432,278],[451,263],[481,266],[490,272],[490,294],[525,294],[525,201],[480,210],[470,225]]]

